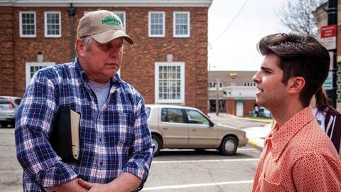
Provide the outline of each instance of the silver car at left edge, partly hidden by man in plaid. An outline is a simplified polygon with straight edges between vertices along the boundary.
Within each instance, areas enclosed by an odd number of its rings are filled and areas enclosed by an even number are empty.
[[[21,97],[0,96],[0,124],[1,127],[14,127],[16,112],[21,102]]]

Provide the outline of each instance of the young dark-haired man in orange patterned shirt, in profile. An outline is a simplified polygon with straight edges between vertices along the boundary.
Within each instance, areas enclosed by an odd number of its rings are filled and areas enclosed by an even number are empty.
[[[261,39],[265,55],[256,103],[276,124],[266,137],[253,191],[341,191],[341,161],[316,122],[310,99],[327,78],[330,58],[311,36],[274,34]]]

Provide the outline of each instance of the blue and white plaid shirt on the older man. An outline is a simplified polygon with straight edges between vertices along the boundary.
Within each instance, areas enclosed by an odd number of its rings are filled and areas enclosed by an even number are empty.
[[[24,191],[40,191],[75,177],[109,183],[122,172],[146,181],[153,157],[143,97],[119,75],[110,79],[102,110],[78,59],[43,68],[27,87],[16,116],[16,152]],[[64,163],[50,146],[58,106],[80,113],[80,161]]]

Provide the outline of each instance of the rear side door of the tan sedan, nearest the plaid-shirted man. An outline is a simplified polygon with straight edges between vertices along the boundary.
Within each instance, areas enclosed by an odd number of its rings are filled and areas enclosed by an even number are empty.
[[[188,124],[180,108],[161,108],[160,131],[165,138],[163,147],[188,146]]]

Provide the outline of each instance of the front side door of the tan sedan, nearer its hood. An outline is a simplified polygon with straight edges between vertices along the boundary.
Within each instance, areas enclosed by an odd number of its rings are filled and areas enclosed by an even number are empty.
[[[210,121],[197,110],[185,110],[188,118],[188,145],[193,148],[217,146],[218,131],[210,127]]]

